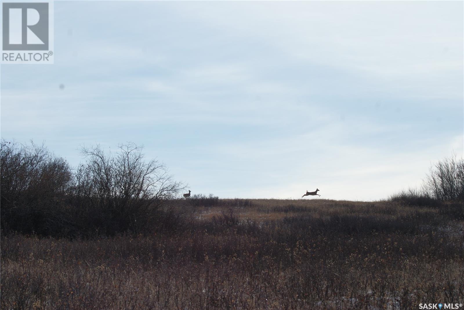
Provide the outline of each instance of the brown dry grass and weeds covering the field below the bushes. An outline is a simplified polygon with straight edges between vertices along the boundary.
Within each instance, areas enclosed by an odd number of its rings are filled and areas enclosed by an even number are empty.
[[[462,203],[176,204],[153,234],[2,236],[0,308],[418,309],[464,302]]]

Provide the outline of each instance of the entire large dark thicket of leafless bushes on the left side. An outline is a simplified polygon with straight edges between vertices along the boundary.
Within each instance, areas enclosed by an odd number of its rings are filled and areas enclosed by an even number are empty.
[[[163,164],[145,161],[133,143],[81,153],[84,163],[72,168],[43,145],[1,141],[2,233],[114,235],[161,225],[160,207],[182,189]]]

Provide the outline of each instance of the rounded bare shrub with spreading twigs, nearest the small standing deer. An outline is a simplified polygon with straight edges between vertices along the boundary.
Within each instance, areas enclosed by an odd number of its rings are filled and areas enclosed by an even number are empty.
[[[82,147],[86,159],[76,171],[72,204],[90,211],[105,234],[139,232],[155,223],[159,208],[183,189],[157,160],[146,162],[143,146],[121,144],[118,152]]]

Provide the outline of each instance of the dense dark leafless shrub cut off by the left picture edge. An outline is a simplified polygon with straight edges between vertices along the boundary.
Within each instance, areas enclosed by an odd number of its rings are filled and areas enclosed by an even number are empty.
[[[4,232],[52,234],[69,221],[63,201],[72,171],[44,145],[0,144],[1,226]]]

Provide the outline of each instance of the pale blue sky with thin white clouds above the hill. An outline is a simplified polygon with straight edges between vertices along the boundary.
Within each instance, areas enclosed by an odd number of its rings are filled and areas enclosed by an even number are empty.
[[[133,141],[192,194],[387,198],[464,152],[463,9],[55,1],[55,63],[1,65],[1,137]]]

